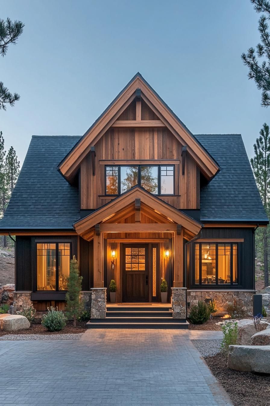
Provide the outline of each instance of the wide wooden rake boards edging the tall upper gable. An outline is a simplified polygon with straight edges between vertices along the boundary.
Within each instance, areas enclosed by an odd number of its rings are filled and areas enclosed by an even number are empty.
[[[70,150],[66,157],[60,162],[59,170],[66,177],[71,179],[79,168],[83,158],[89,153],[91,146],[102,137],[109,127],[117,120],[119,115],[134,100],[136,89],[141,90],[142,99],[157,114],[160,120],[168,127],[174,136],[187,146],[187,151],[196,161],[202,173],[207,179],[211,179],[219,170],[218,163],[196,140],[193,134],[187,129],[183,122],[172,112],[167,104],[157,95],[140,73],[130,80],[113,102],[104,110],[101,116],[85,132],[81,140]]]

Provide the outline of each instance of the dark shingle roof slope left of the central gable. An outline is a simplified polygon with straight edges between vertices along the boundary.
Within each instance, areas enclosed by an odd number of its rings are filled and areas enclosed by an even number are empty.
[[[79,138],[32,136],[1,229],[72,229],[80,217],[78,189],[56,167]]]

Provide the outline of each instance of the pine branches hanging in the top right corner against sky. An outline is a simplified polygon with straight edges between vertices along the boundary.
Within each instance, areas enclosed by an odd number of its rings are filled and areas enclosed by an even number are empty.
[[[268,21],[270,20],[270,2],[267,0],[250,0],[256,13],[265,13],[259,18],[258,30],[261,42],[255,48],[251,47],[247,53],[241,55],[244,65],[249,68],[248,78],[253,79],[257,89],[261,91],[261,105],[270,105],[270,33]],[[260,63],[260,58],[265,58]]]

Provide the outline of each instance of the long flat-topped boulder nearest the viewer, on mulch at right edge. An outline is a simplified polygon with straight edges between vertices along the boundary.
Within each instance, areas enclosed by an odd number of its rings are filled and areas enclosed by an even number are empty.
[[[227,367],[270,374],[270,346],[229,346]]]

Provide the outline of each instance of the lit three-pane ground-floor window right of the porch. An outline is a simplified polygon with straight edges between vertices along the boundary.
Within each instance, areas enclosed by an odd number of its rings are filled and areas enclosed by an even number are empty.
[[[195,285],[235,285],[238,283],[237,243],[195,243]]]

